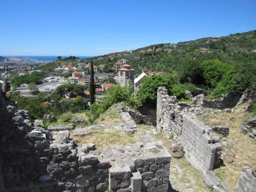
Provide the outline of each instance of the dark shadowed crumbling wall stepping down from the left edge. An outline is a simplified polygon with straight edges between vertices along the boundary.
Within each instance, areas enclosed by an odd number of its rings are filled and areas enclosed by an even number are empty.
[[[77,154],[69,131],[34,127],[29,113],[12,102],[0,108],[0,158],[3,191],[103,191],[109,160]],[[55,140],[54,140],[55,139]],[[41,181],[41,176],[51,176]],[[0,179],[1,181],[1,179]],[[102,187],[105,186],[105,187]]]

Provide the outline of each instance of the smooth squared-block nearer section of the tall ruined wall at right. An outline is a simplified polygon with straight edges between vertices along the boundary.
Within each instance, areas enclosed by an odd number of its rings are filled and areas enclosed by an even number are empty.
[[[202,173],[219,167],[222,145],[211,143],[212,130],[191,116],[183,116],[182,146],[186,159]]]

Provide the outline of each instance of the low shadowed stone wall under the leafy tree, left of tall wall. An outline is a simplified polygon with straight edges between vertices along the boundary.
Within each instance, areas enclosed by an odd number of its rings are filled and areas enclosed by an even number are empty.
[[[127,106],[122,108],[123,112],[128,112],[136,124],[157,125],[156,110],[150,108],[138,108],[136,112]]]

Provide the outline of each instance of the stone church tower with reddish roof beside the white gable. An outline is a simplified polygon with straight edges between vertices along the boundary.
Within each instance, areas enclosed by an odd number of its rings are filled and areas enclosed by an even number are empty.
[[[118,69],[118,82],[120,82],[121,87],[128,86],[129,82],[134,83],[134,69],[131,69],[131,66],[127,64]]]

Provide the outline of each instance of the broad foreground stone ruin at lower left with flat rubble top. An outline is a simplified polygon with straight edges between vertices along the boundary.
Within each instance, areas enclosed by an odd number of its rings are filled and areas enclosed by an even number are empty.
[[[0,101],[0,191],[168,190],[171,157],[150,133],[139,143],[96,149],[95,144],[75,144],[71,125],[43,129],[28,111],[17,110],[16,102],[5,102],[2,95]],[[121,117],[122,123],[109,127],[135,132],[129,113]]]

